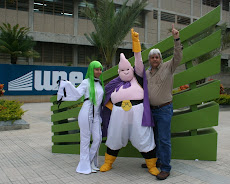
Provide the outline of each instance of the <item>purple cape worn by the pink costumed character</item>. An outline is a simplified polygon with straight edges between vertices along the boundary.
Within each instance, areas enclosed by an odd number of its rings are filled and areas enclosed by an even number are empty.
[[[111,116],[111,110],[108,109],[105,105],[109,102],[111,94],[114,92],[114,90],[117,89],[118,86],[120,88],[121,83],[124,84],[124,82],[118,76],[115,79],[111,80],[105,86],[105,101],[104,101],[102,111],[101,111],[102,136],[103,137],[107,136],[107,130],[108,130],[109,120]],[[147,86],[145,69],[143,71],[143,88],[144,88],[144,100],[143,100],[144,112],[143,112],[143,117],[142,117],[142,126],[154,127],[154,121],[151,116],[151,109],[150,109],[150,104],[149,104],[148,86]]]

